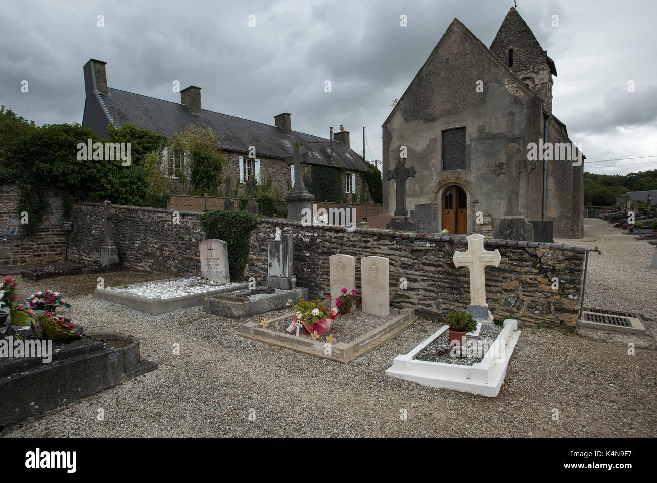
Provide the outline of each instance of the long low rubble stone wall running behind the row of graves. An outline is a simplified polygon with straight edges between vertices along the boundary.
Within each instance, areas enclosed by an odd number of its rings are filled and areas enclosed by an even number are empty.
[[[204,234],[198,213],[180,212],[180,224],[171,222],[173,211],[113,206],[114,238],[120,261],[141,270],[171,274],[199,272],[198,242]],[[304,227],[283,219],[260,219],[252,234],[246,274],[264,284],[267,276],[267,240],[280,227],[294,238],[294,272],[297,285],[312,295],[328,295],[328,257],[336,253],[356,257],[360,286],[360,258],[379,255],[390,259],[390,300],[397,308],[413,308],[424,318],[443,320],[452,310],[466,310],[469,300],[467,268],[452,263],[455,251],[466,251],[463,236],[402,233],[391,230],[346,227]],[[102,205],[74,206],[74,232],[69,257],[90,262],[99,258],[102,243]],[[487,250],[499,249],[499,267],[486,268],[487,302],[496,320],[513,318],[530,324],[575,326],[585,247],[556,243],[485,240]],[[405,277],[407,289],[399,287]],[[551,288],[559,279],[558,291]]]

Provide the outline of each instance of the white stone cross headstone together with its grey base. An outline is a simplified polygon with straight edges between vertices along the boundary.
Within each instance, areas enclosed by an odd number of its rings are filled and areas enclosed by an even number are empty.
[[[468,235],[468,251],[456,251],[452,257],[454,265],[466,266],[470,272],[470,305],[468,314],[482,324],[484,329],[492,329],[493,316],[486,303],[486,278],[484,267],[499,266],[502,259],[499,250],[484,250],[484,235],[473,233]]]

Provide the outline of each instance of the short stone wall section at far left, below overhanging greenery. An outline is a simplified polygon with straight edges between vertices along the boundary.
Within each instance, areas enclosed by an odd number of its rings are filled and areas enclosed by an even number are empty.
[[[19,186],[0,185],[0,266],[54,263],[64,259],[66,231],[62,228],[62,197],[51,188],[48,190],[48,198],[48,212],[39,224],[37,233],[28,235],[20,224]],[[5,226],[9,229],[3,229]],[[14,226],[18,226],[16,235],[13,234]],[[3,240],[4,236],[7,236],[6,241]]]

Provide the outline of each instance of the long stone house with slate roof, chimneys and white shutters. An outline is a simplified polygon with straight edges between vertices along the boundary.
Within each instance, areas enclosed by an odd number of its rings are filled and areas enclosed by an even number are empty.
[[[268,125],[210,111],[201,107],[201,89],[193,85],[180,92],[181,104],[120,91],[108,87],[105,64],[92,58],[83,67],[86,101],[82,125],[93,129],[98,138],[107,137],[108,123],[114,123],[117,129],[129,123],[167,137],[191,124],[210,128],[217,134],[219,149],[227,161],[222,176],[231,176],[233,190],[238,181],[239,194],[248,192],[246,181],[254,173],[259,182],[271,179],[281,196],[294,183],[294,166],[286,165],[285,159],[292,156],[292,145],[301,142],[306,150],[304,175],[310,182],[313,165],[334,167],[341,171],[342,191],[348,201],[359,200],[363,183],[371,200],[367,182],[361,175],[369,166],[351,150],[349,131],[344,127],[340,126],[340,131],[327,139],[292,131],[291,115],[287,112],[274,116],[275,124]],[[254,158],[248,156],[251,146],[255,148]],[[173,168],[175,163],[181,163],[180,156],[171,156],[168,150],[162,156],[171,178],[171,192],[179,192]]]

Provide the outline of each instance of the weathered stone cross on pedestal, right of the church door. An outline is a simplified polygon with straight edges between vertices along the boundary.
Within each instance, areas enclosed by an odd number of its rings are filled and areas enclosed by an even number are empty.
[[[524,240],[533,242],[533,226],[527,222],[519,207],[520,173],[530,173],[537,166],[536,161],[520,159],[522,150],[512,142],[504,150],[507,160],[493,164],[491,173],[495,176],[509,175],[507,182],[507,210],[504,217],[493,227],[495,238],[501,240]]]

